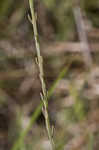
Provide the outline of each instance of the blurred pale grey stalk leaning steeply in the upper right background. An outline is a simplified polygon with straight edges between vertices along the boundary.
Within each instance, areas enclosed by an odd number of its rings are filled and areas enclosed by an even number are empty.
[[[80,6],[76,6],[73,9],[75,22],[77,25],[78,35],[81,43],[83,43],[82,54],[84,56],[84,62],[88,68],[92,66],[92,57],[90,53],[90,47],[87,39],[87,34],[85,31],[85,23],[82,16],[82,11]]]

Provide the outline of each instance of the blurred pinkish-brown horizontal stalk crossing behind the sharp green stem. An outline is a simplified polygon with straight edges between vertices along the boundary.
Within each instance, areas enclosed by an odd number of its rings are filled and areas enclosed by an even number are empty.
[[[99,53],[99,43],[90,42],[90,53]],[[30,45],[30,44],[29,44]],[[82,42],[52,42],[43,43],[41,45],[42,53],[47,56],[58,56],[64,53],[82,53],[82,47],[84,47],[84,43]],[[26,57],[31,57],[33,54],[33,46],[27,47],[25,45],[19,44],[16,46],[10,41],[0,40],[0,49],[3,49],[5,56],[0,58],[0,60],[5,59],[6,57],[15,57],[24,59]],[[35,49],[35,48],[34,48]],[[47,49],[47,51],[46,51]],[[35,53],[35,51],[34,51]]]

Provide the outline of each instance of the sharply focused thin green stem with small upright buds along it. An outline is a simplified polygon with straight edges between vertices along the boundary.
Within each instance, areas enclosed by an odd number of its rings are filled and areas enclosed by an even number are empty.
[[[38,40],[38,32],[37,32],[37,25],[36,25],[36,16],[34,12],[34,1],[29,0],[29,5],[30,5],[30,10],[31,10],[31,15],[32,15],[32,25],[33,25],[33,30],[34,30],[34,39],[35,39],[35,45],[36,45],[36,51],[37,51],[37,64],[39,67],[39,77],[41,81],[41,86],[42,86],[42,93],[41,93],[41,99],[43,101],[43,107],[44,107],[44,117],[45,117],[45,123],[46,123],[46,129],[48,133],[48,137],[52,146],[52,149],[54,149],[54,141],[52,138],[52,128],[50,125],[49,121],[49,116],[48,116],[48,110],[47,110],[47,90],[46,90],[46,84],[44,81],[44,71],[43,71],[43,58],[40,53],[40,45],[39,45],[39,40]]]

